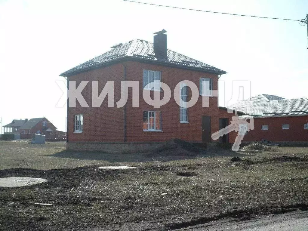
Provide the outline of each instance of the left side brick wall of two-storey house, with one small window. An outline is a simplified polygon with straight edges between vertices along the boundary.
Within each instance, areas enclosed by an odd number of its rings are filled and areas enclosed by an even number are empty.
[[[67,135],[69,142],[123,142],[124,141],[124,109],[107,107],[107,98],[100,107],[92,107],[92,83],[99,81],[99,93],[108,80],[115,81],[115,102],[120,100],[121,85],[124,80],[124,67],[122,64],[87,71],[69,77],[76,81],[76,87],[82,80],[90,81],[83,89],[82,95],[89,105],[81,107],[76,100],[76,107],[68,109]],[[83,132],[74,133],[74,115],[83,114]]]

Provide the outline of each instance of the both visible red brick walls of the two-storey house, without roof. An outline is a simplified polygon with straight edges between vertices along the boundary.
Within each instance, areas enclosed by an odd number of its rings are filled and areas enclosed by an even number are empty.
[[[180,123],[180,107],[173,98],[174,87],[181,80],[193,81],[199,88],[199,78],[211,78],[213,90],[217,90],[218,76],[198,71],[188,71],[146,63],[125,62],[126,80],[140,81],[140,107],[132,107],[132,89],[128,91],[128,103],[126,104],[126,141],[127,142],[158,142],[170,139],[182,139],[193,142],[202,141],[201,118],[202,115],[211,116],[211,133],[219,129],[219,118],[229,118],[232,114],[217,107],[217,97],[210,97],[210,107],[202,108],[202,97],[198,102],[188,108],[188,124]],[[170,101],[153,109],[153,106],[144,102],[142,97],[143,69],[161,71],[161,81],[166,83],[172,92]],[[120,99],[120,81],[124,80],[124,69],[122,64],[88,71],[75,76],[70,80],[76,80],[76,86],[81,80],[99,80],[99,92],[105,86],[107,80],[115,81],[115,102]],[[87,101],[89,108],[82,108],[76,101],[75,108],[68,111],[68,141],[69,142],[123,142],[124,141],[124,107],[108,108],[107,98],[100,108],[92,108],[92,84],[89,82],[82,94]],[[163,94],[163,93],[162,93]],[[163,132],[143,131],[143,111],[161,111]],[[83,132],[74,133],[74,115],[83,114]],[[234,141],[234,134],[229,136],[229,141]],[[218,140],[217,140],[218,141]]]

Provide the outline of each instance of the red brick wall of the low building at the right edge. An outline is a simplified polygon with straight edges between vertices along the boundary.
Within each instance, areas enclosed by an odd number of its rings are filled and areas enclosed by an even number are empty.
[[[304,129],[307,122],[308,115],[255,118],[255,128],[245,135],[244,141],[308,141],[308,129]],[[290,124],[290,129],[282,130],[282,124]],[[268,130],[261,130],[262,125],[268,125]]]

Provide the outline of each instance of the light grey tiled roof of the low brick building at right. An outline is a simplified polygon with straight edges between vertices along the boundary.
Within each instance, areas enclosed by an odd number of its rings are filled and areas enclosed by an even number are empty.
[[[268,95],[267,95],[268,96]],[[271,97],[274,96],[274,97]],[[269,98],[271,100],[269,100]],[[283,116],[283,115],[308,115],[308,99],[299,98],[299,99],[278,99],[282,98],[275,95],[257,95],[250,98],[252,101],[253,110],[248,113],[247,105],[248,103],[245,100],[242,100],[239,103],[233,104],[230,108],[238,108],[238,110],[243,111],[247,114],[251,114],[253,117],[259,116]]]

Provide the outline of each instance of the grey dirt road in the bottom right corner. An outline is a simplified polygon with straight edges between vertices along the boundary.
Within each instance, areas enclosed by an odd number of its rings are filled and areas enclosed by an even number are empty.
[[[294,211],[277,215],[256,217],[248,221],[223,219],[205,225],[180,230],[191,231],[307,231],[308,212]]]

